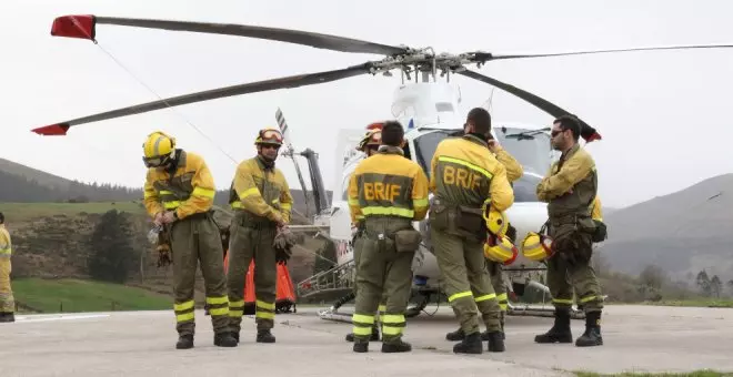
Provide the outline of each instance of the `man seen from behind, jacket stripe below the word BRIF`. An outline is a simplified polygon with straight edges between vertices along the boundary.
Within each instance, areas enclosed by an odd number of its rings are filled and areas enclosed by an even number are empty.
[[[402,145],[402,125],[384,122],[382,145],[357,165],[349,180],[352,217],[363,216],[364,223],[352,316],[357,353],[369,350],[374,312],[384,296],[382,351],[412,350],[402,340],[402,332],[412,288],[412,259],[422,241],[412,222],[423,220],[428,212],[428,177],[420,165],[404,157]]]

